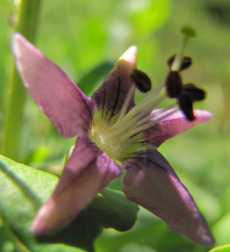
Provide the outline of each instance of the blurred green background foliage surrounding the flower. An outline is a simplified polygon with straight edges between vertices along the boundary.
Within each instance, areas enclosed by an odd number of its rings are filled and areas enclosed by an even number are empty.
[[[0,8],[0,130],[7,109],[13,58],[10,37],[15,8]],[[157,86],[166,76],[166,60],[181,42],[179,30],[191,25],[197,36],[186,48],[193,66],[183,74],[207,91],[197,108],[213,119],[167,141],[159,151],[188,187],[206,217],[217,245],[230,243],[230,2],[228,0],[43,0],[37,47],[90,95],[100,83],[84,77],[102,65],[103,73],[132,44],[138,46],[138,67]],[[100,68],[101,69],[101,68]],[[48,119],[28,99],[24,110],[20,158],[35,167],[55,168],[75,139],[62,139]],[[0,142],[3,134],[0,135]],[[119,181],[114,183],[117,186]],[[10,238],[9,238],[10,239]],[[8,246],[9,247],[9,246]],[[95,243],[97,252],[208,251],[141,209],[127,233],[105,230]],[[4,247],[5,248],[5,247]],[[6,249],[5,251],[11,251]]]

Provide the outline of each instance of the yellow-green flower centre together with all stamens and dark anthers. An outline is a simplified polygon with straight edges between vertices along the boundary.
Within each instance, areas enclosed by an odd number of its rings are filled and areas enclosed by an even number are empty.
[[[108,156],[119,162],[132,157],[133,153],[141,150],[146,141],[145,130],[177,112],[178,109],[172,109],[175,106],[182,110],[187,120],[195,119],[193,102],[203,100],[205,92],[192,83],[186,85],[182,83],[180,73],[191,65],[191,58],[182,56],[188,38],[191,36],[188,31],[191,33],[188,28],[184,32],[179,53],[168,61],[170,71],[165,81],[156,89],[149,91],[151,80],[148,75],[135,68],[130,75],[133,85],[126,95],[120,113],[109,122],[101,120],[101,111],[96,113],[90,136]],[[130,109],[130,105],[134,105],[136,88],[141,92],[149,92],[142,101]],[[164,94],[161,93],[163,88]],[[163,109],[156,109],[166,98],[176,98],[176,101]]]

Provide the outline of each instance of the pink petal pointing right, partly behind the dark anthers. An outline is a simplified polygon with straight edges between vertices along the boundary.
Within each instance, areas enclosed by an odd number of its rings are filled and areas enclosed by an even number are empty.
[[[153,111],[152,113],[154,113]],[[153,144],[154,146],[160,146],[165,140],[174,137],[200,123],[204,123],[212,118],[212,114],[205,110],[194,110],[196,119],[194,121],[188,121],[184,114],[178,110],[169,117],[166,117],[160,123],[145,130],[146,143]],[[154,118],[154,120],[156,120]]]

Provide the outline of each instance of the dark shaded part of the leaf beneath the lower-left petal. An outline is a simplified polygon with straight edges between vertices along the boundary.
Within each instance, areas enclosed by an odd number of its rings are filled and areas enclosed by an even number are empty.
[[[138,210],[138,206],[127,200],[122,193],[106,188],[69,227],[55,236],[42,237],[40,241],[77,244],[79,247],[87,248],[87,251],[94,251],[88,244],[93,244],[103,228],[128,231],[136,222]],[[72,234],[74,238],[70,239]]]

